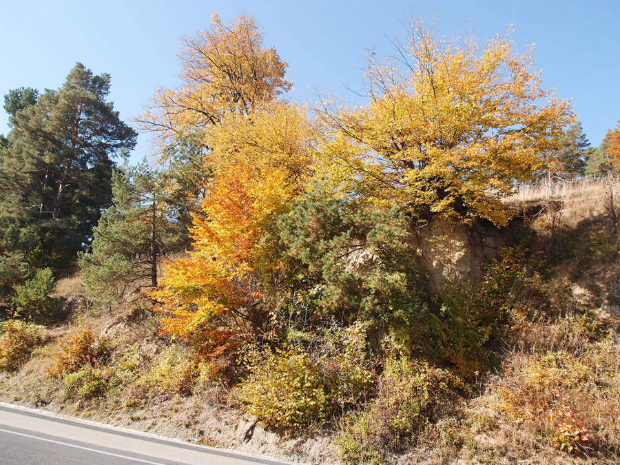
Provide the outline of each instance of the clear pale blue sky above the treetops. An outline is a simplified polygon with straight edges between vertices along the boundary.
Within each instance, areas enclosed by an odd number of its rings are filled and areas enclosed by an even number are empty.
[[[239,12],[256,17],[265,45],[289,62],[290,99],[311,101],[317,89],[360,101],[347,87],[363,89],[366,48],[391,54],[388,37],[403,37],[401,23],[422,17],[446,36],[473,29],[482,42],[512,25],[517,51],[536,43],[544,87],[572,99],[592,145],[620,118],[619,0],[4,0],[0,94],[59,87],[81,61],[112,75],[111,99],[131,121],[156,88],[177,85],[178,39],[209,28],[210,12],[226,21]],[[148,153],[148,140],[138,138],[134,159]]]

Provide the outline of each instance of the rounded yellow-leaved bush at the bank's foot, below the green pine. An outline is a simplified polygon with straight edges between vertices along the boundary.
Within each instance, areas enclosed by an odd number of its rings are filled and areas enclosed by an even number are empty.
[[[298,349],[255,355],[236,397],[267,426],[279,428],[322,422],[329,408],[320,365]]]

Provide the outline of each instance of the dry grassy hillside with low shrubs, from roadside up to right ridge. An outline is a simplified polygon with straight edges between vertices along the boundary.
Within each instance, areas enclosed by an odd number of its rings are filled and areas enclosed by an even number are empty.
[[[271,355],[205,357],[159,334],[143,293],[100,308],[76,273],[56,284],[59,321],[2,323],[0,398],[300,462],[617,463],[612,187],[521,191],[507,200],[512,223],[484,240],[493,256],[459,246],[472,273],[446,266],[455,235],[424,238],[434,248],[418,254],[435,256],[420,305],[439,321],[405,321],[381,345],[380,329],[334,325]],[[429,267],[444,273],[432,287]],[[291,402],[273,400],[282,392]]]

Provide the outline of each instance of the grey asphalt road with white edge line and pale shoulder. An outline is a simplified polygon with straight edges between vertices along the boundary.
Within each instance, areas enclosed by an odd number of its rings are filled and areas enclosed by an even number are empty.
[[[287,463],[269,457],[252,457],[139,431],[59,417],[0,402],[0,464]]]

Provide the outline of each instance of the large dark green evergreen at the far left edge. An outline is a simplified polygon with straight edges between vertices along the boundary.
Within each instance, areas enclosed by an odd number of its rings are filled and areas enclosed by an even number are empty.
[[[59,90],[6,95],[12,130],[0,156],[2,256],[23,251],[34,267],[57,266],[90,242],[110,205],[112,158],[136,144],[109,92],[109,74],[77,63]]]

